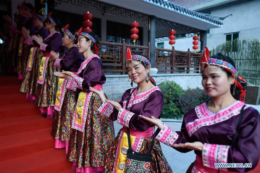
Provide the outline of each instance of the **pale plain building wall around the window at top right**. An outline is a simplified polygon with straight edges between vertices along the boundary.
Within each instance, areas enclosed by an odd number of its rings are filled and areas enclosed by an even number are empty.
[[[211,9],[215,16],[227,16],[221,28],[210,29],[207,34],[207,46],[209,49],[226,41],[225,34],[239,32],[239,40],[244,38],[260,39],[260,1],[241,0]]]

